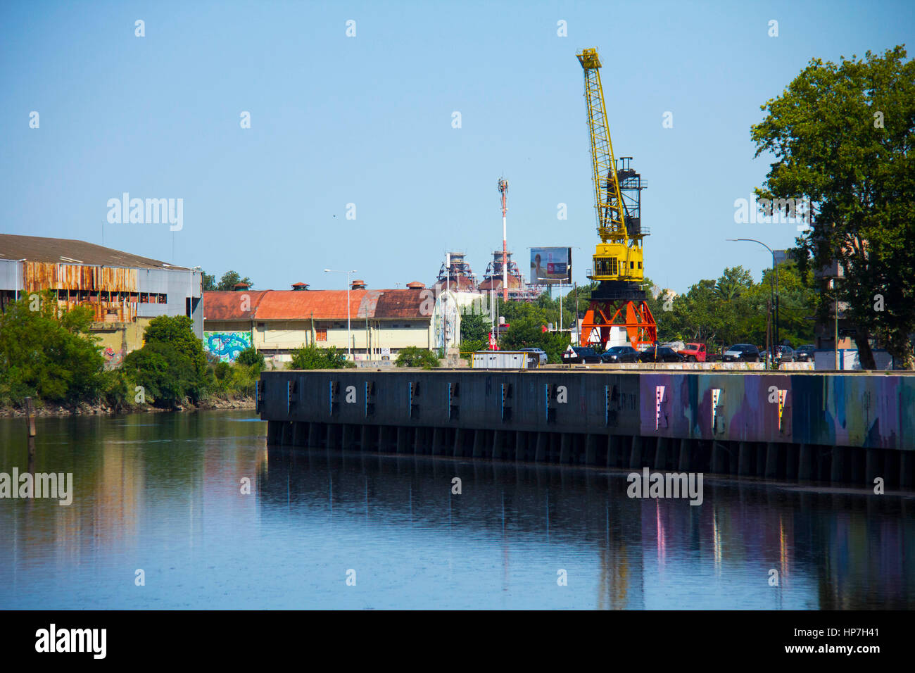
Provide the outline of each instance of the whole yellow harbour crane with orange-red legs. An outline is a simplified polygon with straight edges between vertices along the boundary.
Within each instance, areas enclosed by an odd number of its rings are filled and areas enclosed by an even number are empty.
[[[597,244],[588,278],[599,283],[592,290],[591,303],[582,320],[582,345],[600,343],[606,346],[611,328],[626,330],[633,347],[657,341],[657,327],[641,287],[642,238],[648,231],[641,227],[641,176],[630,168],[631,157],[617,159],[610,142],[607,105],[600,82],[600,58],[597,49],[583,49],[576,54],[585,71],[587,122],[591,135],[595,208],[597,210]]]

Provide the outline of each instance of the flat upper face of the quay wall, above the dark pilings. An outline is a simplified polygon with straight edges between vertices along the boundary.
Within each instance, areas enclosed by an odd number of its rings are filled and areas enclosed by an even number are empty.
[[[264,420],[364,423],[359,405],[328,407],[328,383],[361,390],[366,373],[265,372]],[[915,376],[724,372],[605,373],[600,370],[372,374],[375,425],[667,437],[897,449],[915,453]],[[290,406],[287,384],[298,382]],[[422,397],[411,396],[415,385]],[[448,392],[459,385],[460,398]],[[511,396],[503,396],[511,385]],[[559,388],[565,396],[559,398]],[[453,388],[452,388],[453,390]],[[449,396],[450,395],[450,396]],[[446,400],[442,404],[441,400]],[[451,400],[450,403],[447,403]],[[422,409],[422,417],[417,411]],[[404,409],[410,410],[409,413]],[[511,414],[506,412],[511,409]]]

